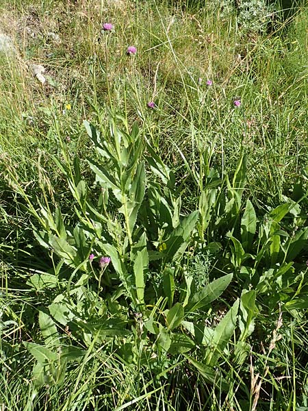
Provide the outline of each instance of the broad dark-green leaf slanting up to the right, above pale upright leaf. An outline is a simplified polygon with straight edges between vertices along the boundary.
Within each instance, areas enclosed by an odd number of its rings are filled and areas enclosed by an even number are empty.
[[[196,292],[192,296],[192,299],[190,300],[190,303],[188,303],[186,310],[195,312],[199,308],[205,307],[212,301],[216,300],[216,298],[219,297],[222,292],[224,292],[227,286],[229,286],[232,277],[233,274],[224,275],[223,277],[214,279],[213,282],[201,288],[200,291]]]

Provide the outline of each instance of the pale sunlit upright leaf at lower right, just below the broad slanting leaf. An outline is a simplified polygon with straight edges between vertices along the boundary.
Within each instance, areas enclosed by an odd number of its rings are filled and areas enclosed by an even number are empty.
[[[211,340],[211,348],[207,350],[207,364],[215,366],[218,358],[222,356],[224,348],[229,343],[231,336],[235,331],[238,319],[238,308],[240,300],[237,299],[231,309],[227,312],[214,330]]]

